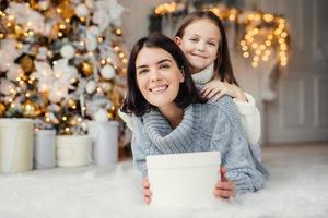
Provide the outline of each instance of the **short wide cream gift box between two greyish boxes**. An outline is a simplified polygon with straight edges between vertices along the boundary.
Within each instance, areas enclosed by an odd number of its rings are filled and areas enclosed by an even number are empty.
[[[59,135],[56,148],[58,167],[79,167],[92,162],[92,144],[87,135]]]

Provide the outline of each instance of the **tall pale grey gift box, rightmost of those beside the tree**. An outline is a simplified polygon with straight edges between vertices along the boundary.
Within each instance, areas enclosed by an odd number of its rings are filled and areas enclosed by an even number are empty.
[[[89,135],[93,142],[93,160],[97,166],[110,165],[118,159],[118,122],[90,121]]]

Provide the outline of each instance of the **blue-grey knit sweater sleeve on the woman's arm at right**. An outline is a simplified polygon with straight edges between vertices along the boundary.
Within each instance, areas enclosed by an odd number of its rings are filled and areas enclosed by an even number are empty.
[[[213,143],[219,147],[227,178],[236,185],[237,193],[254,192],[263,186],[265,178],[253,161],[236,106],[230,97],[219,100],[218,122]]]

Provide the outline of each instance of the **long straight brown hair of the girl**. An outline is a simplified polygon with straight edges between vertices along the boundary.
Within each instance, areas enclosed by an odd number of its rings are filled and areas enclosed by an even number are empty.
[[[234,76],[233,68],[230,60],[230,53],[227,48],[226,36],[224,32],[223,24],[219,16],[216,16],[211,11],[196,11],[188,14],[184,21],[181,26],[178,28],[176,33],[176,37],[183,38],[185,35],[185,29],[194,22],[199,21],[201,19],[210,20],[214,25],[218,26],[221,34],[221,40],[219,41],[219,49],[216,55],[216,60],[214,61],[214,72],[220,76],[221,81],[227,81],[231,84],[235,84],[238,86],[238,83]]]

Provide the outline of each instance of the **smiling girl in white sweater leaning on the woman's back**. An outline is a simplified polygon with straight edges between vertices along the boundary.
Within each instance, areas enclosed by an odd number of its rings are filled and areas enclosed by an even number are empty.
[[[190,63],[192,80],[203,97],[218,100],[233,97],[251,149],[259,161],[261,152],[260,113],[254,98],[244,93],[234,77],[227,41],[221,20],[211,11],[198,11],[186,16],[175,36],[176,44]]]

